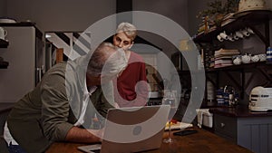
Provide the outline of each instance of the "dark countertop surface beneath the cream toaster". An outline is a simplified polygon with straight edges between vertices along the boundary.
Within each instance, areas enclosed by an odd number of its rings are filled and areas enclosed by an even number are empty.
[[[209,112],[229,117],[272,117],[272,111],[251,111],[247,106],[210,108]]]

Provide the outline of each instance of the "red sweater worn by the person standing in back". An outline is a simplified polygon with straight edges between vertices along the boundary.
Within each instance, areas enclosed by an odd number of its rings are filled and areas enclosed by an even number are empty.
[[[146,104],[149,91],[145,62],[139,54],[131,52],[128,67],[117,78],[117,83],[116,80],[113,83],[114,99],[120,107]]]

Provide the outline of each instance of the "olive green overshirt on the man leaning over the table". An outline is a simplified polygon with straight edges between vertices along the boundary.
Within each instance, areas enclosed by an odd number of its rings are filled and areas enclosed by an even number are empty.
[[[86,97],[84,77],[84,71],[77,64],[56,64],[45,73],[34,91],[15,104],[7,125],[13,138],[26,152],[44,152],[53,141],[65,140],[67,132],[81,114]],[[109,94],[113,93],[109,91]],[[89,102],[88,109],[92,110],[94,106],[103,117],[112,108],[109,103],[112,101],[104,98],[101,86],[92,93],[91,100],[93,105]]]

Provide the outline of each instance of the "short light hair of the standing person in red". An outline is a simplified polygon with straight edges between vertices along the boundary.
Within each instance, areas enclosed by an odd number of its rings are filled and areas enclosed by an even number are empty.
[[[137,29],[133,24],[130,23],[121,23],[116,29],[116,33],[125,33],[130,39],[131,42],[136,38]]]

